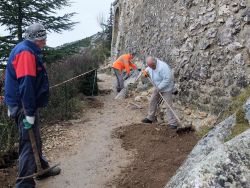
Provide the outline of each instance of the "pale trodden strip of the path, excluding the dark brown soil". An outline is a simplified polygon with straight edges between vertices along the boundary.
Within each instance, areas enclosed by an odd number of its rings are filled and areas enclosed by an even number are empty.
[[[99,75],[99,79],[103,80],[99,83],[101,89],[112,87],[111,76]],[[121,141],[111,134],[115,128],[140,122],[143,113],[137,110],[135,114],[126,102],[114,101],[114,93],[97,99],[103,107],[86,111],[68,130],[72,146],[49,153],[49,159],[61,163],[61,175],[38,182],[38,187],[104,187],[129,164],[132,152],[121,148]]]

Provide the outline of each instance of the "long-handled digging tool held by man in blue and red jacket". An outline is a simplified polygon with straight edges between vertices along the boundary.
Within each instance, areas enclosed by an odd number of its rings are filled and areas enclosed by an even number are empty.
[[[31,142],[31,146],[32,146],[32,151],[33,151],[35,162],[36,162],[37,172],[34,173],[34,174],[32,174],[32,175],[29,175],[29,176],[18,177],[17,180],[24,180],[24,179],[29,179],[29,178],[41,176],[41,175],[49,172],[51,169],[53,169],[53,168],[55,168],[55,167],[57,167],[57,166],[60,165],[60,163],[58,163],[58,164],[55,164],[55,165],[53,165],[53,166],[51,166],[49,168],[46,168],[46,169],[42,168],[33,129],[32,128],[29,129],[28,132],[29,132],[30,142]]]

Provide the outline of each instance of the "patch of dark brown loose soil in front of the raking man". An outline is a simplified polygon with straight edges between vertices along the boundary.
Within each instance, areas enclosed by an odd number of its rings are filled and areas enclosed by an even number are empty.
[[[135,151],[134,161],[112,184],[119,188],[161,188],[186,159],[198,139],[193,132],[178,135],[163,126],[137,124],[117,129],[122,147]]]

